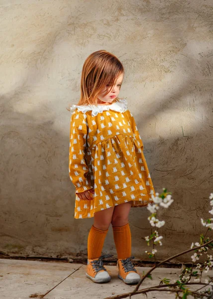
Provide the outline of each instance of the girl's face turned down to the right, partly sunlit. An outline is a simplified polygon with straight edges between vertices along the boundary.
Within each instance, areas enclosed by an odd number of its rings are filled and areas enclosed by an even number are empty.
[[[118,94],[120,92],[120,85],[121,85],[122,80],[123,80],[123,75],[120,75],[117,78],[116,84],[113,86],[110,93],[109,93],[110,88],[108,87],[108,85],[106,85],[106,87],[98,95],[98,104],[99,105],[110,105],[110,103],[118,96]],[[104,97],[106,90],[108,90],[108,93]]]

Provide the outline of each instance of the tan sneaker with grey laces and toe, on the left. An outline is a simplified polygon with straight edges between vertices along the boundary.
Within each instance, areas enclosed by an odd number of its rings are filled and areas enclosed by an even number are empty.
[[[109,282],[111,280],[111,276],[108,274],[106,268],[104,267],[102,259],[111,256],[112,255],[102,255],[97,259],[88,259],[86,276],[94,283]]]

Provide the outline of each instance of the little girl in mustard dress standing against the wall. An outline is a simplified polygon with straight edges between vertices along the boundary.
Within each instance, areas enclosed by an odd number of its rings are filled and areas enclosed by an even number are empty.
[[[152,203],[155,190],[143,154],[143,143],[127,101],[118,98],[124,69],[116,56],[100,50],[85,61],[81,99],[71,106],[69,175],[76,187],[74,218],[94,217],[88,236],[86,276],[110,281],[101,255],[111,223],[118,277],[140,281],[131,257],[128,214],[131,207]]]

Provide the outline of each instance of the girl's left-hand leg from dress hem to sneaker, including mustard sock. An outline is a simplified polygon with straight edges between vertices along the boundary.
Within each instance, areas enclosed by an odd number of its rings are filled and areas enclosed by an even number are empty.
[[[94,214],[94,224],[88,235],[88,259],[101,256],[113,209],[114,206]]]

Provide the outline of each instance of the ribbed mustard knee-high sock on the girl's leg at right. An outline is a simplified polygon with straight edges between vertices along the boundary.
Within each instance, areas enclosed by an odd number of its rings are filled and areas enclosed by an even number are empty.
[[[129,258],[131,256],[131,231],[129,223],[123,226],[112,226],[112,229],[117,258]]]

